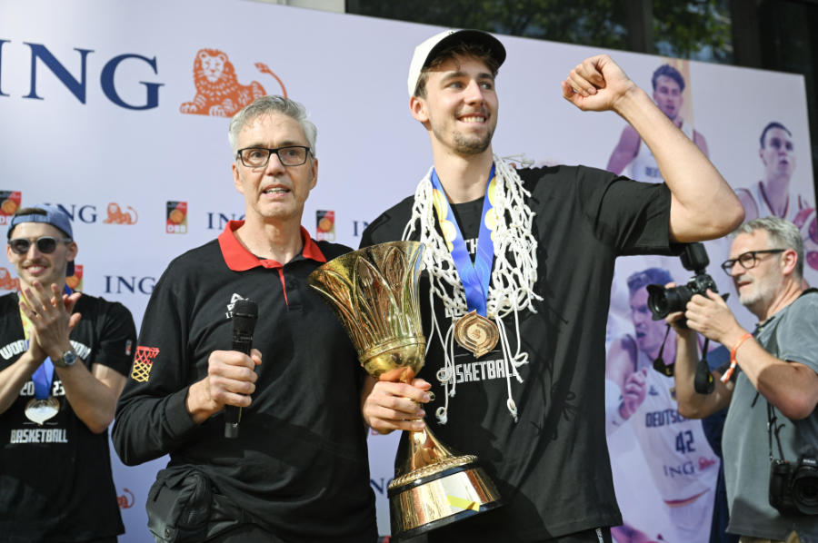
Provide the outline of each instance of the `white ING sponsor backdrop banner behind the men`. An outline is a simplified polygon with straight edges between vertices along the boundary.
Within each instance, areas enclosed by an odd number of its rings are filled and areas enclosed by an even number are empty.
[[[71,284],[123,302],[138,327],[166,264],[213,239],[228,220],[242,218],[227,124],[244,104],[243,96],[262,92],[303,103],[318,126],[318,184],[306,204],[304,226],[318,239],[357,247],[367,222],[414,193],[431,164],[424,129],[408,112],[405,81],[415,44],[439,30],[242,0],[3,0],[0,225],[20,205],[60,205],[73,220],[80,249]],[[495,152],[536,164],[606,167],[623,120],[612,113],[584,114],[560,91],[575,64],[601,51],[501,38],[508,60],[497,80],[502,114]],[[804,236],[818,241],[810,211],[812,163],[801,75],[609,53],[648,92],[658,66],[676,66],[686,82],[681,110],[686,126],[703,137],[713,163],[736,188],[753,189],[764,179],[767,158],[759,137],[767,123],[783,124],[794,150],[781,167],[792,175],[777,190],[789,196],[789,214],[806,210],[800,215]],[[217,81],[196,74],[200,66],[210,68]],[[770,213],[758,203],[761,214]],[[729,242],[707,247],[713,261],[708,271],[721,291],[732,291],[717,266]],[[818,252],[809,258],[813,267],[807,278],[815,282]],[[634,272],[653,267],[679,282],[693,275],[678,259],[620,262],[608,341],[625,354],[609,355],[612,409],[627,375],[653,349],[627,286]],[[15,288],[15,271],[6,262],[0,266],[0,289]],[[752,327],[752,315],[731,303],[743,325]],[[679,535],[682,528],[670,507],[684,498],[675,481],[691,471],[713,473],[719,460],[705,443],[699,447],[698,421],[690,423],[693,441],[683,433],[663,434],[662,446],[641,437],[637,426],[650,427],[650,420],[660,425],[662,415],[656,413],[677,416],[673,398],[666,401],[653,411],[637,411],[609,437],[614,479],[630,533],[689,541]],[[369,439],[384,534],[396,442],[396,435]],[[673,465],[674,450],[686,455],[682,463]],[[150,540],[145,497],[165,461],[126,468],[114,454],[126,526],[120,540]],[[712,490],[710,475],[701,481]]]

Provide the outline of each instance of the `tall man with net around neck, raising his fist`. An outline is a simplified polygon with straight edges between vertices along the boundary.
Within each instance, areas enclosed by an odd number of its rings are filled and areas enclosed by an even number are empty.
[[[370,224],[362,245],[424,242],[429,350],[414,386],[369,382],[364,419],[383,433],[421,429],[416,402],[425,404],[425,423],[476,454],[503,495],[504,507],[432,530],[430,541],[610,541],[607,527],[622,522],[604,433],[614,259],[721,236],[741,222],[742,206],[604,54],[571,71],[564,98],[623,116],[666,184],[583,166],[515,171],[491,144],[504,59],[503,44],[474,30],[415,49],[409,109],[429,134],[434,168],[414,197]]]

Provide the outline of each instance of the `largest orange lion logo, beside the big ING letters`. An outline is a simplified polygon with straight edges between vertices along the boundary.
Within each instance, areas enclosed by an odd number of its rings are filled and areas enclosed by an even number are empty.
[[[281,85],[282,94],[286,97],[287,91],[278,75],[266,64],[255,63],[255,67],[262,74],[272,75]],[[245,105],[267,94],[257,81],[239,84],[233,64],[227,54],[218,49],[200,49],[196,53],[194,83],[196,95],[193,102],[185,102],[179,106],[179,111],[183,114],[232,117]]]

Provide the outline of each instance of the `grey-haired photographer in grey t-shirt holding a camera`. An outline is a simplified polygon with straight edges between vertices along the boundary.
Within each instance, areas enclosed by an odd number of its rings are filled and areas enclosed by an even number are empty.
[[[812,514],[793,503],[773,507],[771,496],[778,494],[769,475],[771,460],[785,460],[793,471],[802,458],[818,461],[818,294],[803,288],[803,241],[792,222],[764,217],[734,233],[722,267],[759,323],[753,332],[744,330],[711,291],[688,302],[687,328],[678,325],[681,312],[668,316],[678,334],[679,411],[703,418],[729,406],[722,437],[727,531],[743,542],[818,541],[818,466],[805,464],[813,482],[801,497]],[[730,350],[729,367],[713,372],[710,394],[693,387],[696,331]],[[786,485],[781,490],[793,492]]]

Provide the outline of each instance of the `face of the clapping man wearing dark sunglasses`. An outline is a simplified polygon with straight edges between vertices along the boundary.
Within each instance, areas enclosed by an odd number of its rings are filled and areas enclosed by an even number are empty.
[[[37,250],[34,242],[42,236],[51,236],[58,240],[65,238],[65,233],[45,222],[21,222],[12,231],[12,239],[25,238],[29,240],[31,246],[25,254],[17,254],[8,245],[5,246],[5,253],[8,261],[11,262],[20,278],[21,287],[30,286],[32,282],[39,281],[47,289],[52,283],[58,287],[65,286],[65,269],[69,261],[76,257],[75,242],[58,242],[54,252],[45,254]]]

